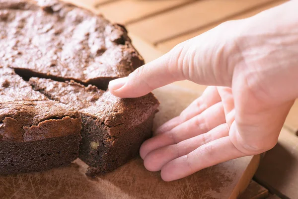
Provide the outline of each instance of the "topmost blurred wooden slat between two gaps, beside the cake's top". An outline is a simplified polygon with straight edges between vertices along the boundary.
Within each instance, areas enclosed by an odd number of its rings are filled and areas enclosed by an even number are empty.
[[[97,11],[113,22],[127,24],[189,1],[194,0],[120,0],[99,6]]]

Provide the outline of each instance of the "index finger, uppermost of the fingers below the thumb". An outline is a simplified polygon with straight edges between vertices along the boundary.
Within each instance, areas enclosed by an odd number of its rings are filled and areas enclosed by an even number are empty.
[[[154,135],[171,130],[175,126],[189,120],[195,115],[202,113],[204,110],[220,101],[221,97],[218,93],[217,88],[213,86],[207,87],[200,98],[194,100],[187,108],[185,108],[181,112],[179,116],[170,119],[169,121],[158,127],[154,132]]]

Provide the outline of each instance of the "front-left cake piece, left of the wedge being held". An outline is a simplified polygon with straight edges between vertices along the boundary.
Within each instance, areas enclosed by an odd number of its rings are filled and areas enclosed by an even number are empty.
[[[44,171],[78,157],[81,118],[0,68],[0,175]]]

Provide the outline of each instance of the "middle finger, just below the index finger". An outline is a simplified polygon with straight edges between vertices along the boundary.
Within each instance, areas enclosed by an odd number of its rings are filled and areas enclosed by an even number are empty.
[[[224,107],[222,102],[219,102],[170,131],[146,140],[140,148],[140,155],[144,159],[152,150],[206,133],[224,122]]]

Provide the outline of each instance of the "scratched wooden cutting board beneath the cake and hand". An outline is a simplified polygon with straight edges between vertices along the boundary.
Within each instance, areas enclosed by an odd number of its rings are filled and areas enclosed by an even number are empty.
[[[173,85],[154,94],[161,101],[155,127],[178,115],[199,95]],[[69,167],[0,177],[0,198],[235,199],[250,182],[259,160],[260,156],[238,158],[169,183],[161,180],[159,172],[147,171],[140,158],[95,180],[84,175],[86,165],[76,160]]]

